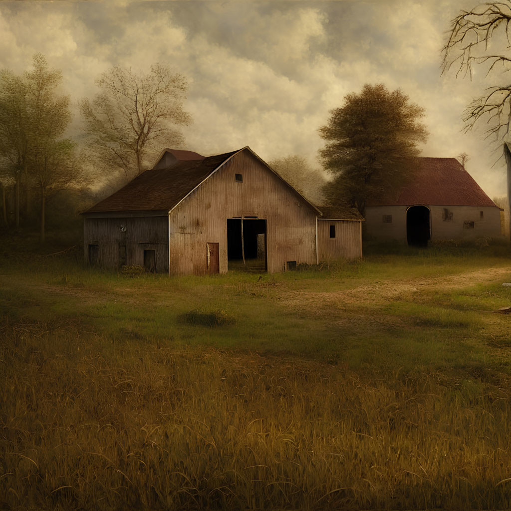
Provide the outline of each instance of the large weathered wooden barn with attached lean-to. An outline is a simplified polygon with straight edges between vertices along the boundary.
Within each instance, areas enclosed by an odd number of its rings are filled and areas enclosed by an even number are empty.
[[[165,149],[153,169],[83,215],[85,261],[112,269],[277,272],[362,256],[361,217],[323,220],[249,147],[208,157]]]

